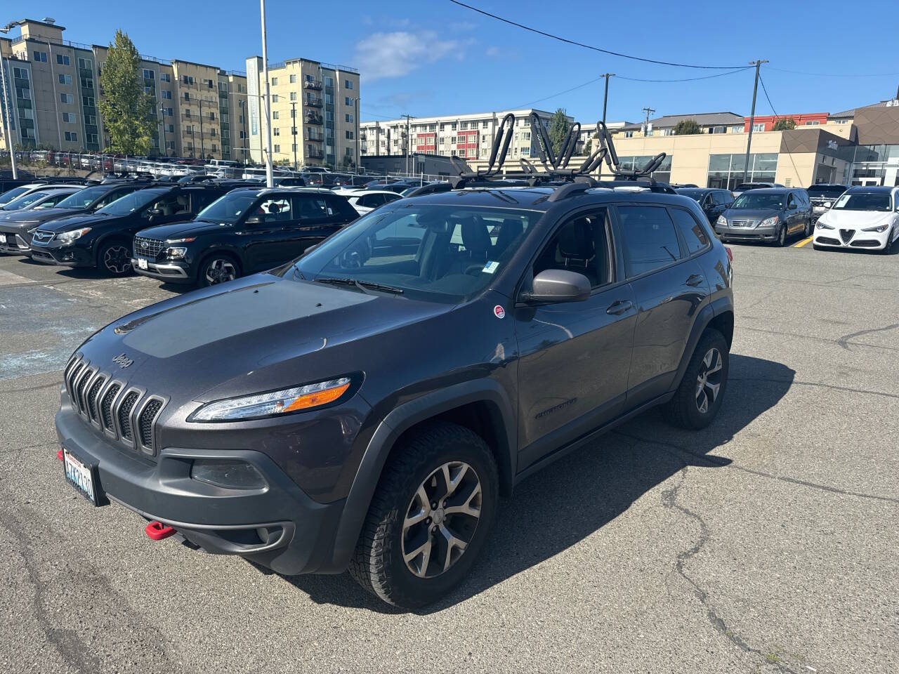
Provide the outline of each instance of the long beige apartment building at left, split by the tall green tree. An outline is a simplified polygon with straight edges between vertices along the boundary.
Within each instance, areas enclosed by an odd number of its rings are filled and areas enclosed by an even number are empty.
[[[0,39],[12,145],[102,151],[109,145],[109,134],[97,103],[103,94],[100,74],[108,47],[64,40],[66,29],[56,23],[24,19],[18,26],[18,37]],[[243,73],[148,56],[141,57],[139,69],[144,91],[154,100],[151,154],[245,158],[245,144],[238,136],[235,145],[230,133],[231,119],[243,114],[234,106],[246,104]],[[5,133],[0,131],[0,137]],[[236,153],[235,146],[242,151]]]

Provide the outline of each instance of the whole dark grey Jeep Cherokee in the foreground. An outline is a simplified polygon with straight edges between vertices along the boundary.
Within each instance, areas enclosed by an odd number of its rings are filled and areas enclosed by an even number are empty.
[[[147,306],[64,371],[65,474],[210,553],[403,607],[466,576],[501,494],[727,386],[730,252],[694,200],[488,188],[398,200],[276,270]]]

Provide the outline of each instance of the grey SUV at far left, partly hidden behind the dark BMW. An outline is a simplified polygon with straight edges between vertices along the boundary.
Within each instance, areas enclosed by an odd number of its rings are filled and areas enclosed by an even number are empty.
[[[113,201],[130,194],[147,182],[109,182],[76,191],[52,208],[10,213],[0,218],[0,252],[30,254],[31,235],[40,226],[60,217],[93,213]]]

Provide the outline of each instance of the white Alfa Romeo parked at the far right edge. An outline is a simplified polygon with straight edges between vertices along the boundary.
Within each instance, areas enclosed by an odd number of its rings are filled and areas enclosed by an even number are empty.
[[[850,187],[818,218],[813,244],[889,253],[899,238],[899,187]]]

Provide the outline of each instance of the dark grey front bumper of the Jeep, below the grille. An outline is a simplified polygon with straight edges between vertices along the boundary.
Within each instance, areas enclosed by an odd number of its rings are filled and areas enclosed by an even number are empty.
[[[164,448],[149,458],[114,445],[69,403],[63,388],[56,416],[59,442],[96,466],[111,501],[174,527],[212,554],[238,554],[275,572],[342,572],[332,562],[344,500],[318,503],[262,452]],[[218,487],[191,478],[195,459],[239,459],[263,475],[262,489]]]

